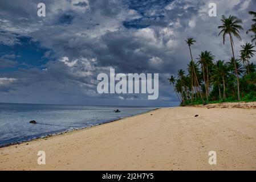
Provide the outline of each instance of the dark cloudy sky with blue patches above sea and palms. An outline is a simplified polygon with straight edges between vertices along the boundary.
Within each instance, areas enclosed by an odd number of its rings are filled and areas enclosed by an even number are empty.
[[[46,17],[37,15],[38,3]],[[208,15],[216,3],[217,17]],[[177,105],[167,78],[193,56],[211,51],[228,60],[230,45],[218,37],[221,15],[250,28],[255,0],[1,0],[0,102],[83,105]],[[236,55],[250,35],[235,40]],[[255,61],[255,58],[253,60]],[[147,94],[98,94],[97,75],[159,73],[159,98]]]

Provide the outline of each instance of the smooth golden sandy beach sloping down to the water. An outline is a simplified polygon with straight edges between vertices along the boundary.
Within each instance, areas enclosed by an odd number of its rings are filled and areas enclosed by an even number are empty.
[[[46,152],[45,165],[37,163],[38,151]],[[209,151],[216,151],[216,165],[208,163]],[[0,148],[0,169],[256,170],[256,109],[208,105],[153,110]]]

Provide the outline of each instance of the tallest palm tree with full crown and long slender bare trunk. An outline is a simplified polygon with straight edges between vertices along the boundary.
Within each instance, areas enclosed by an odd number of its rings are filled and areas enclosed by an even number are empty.
[[[240,25],[242,23],[242,20],[238,19],[237,16],[230,15],[229,18],[226,18],[226,16],[222,15],[221,22],[222,22],[222,25],[218,26],[218,28],[221,29],[219,35],[222,34],[224,44],[225,44],[226,35],[229,35],[233,59],[235,60],[235,54],[234,54],[234,48],[233,48],[234,46],[233,36],[241,40],[241,36],[239,35],[240,33],[239,30],[243,29],[243,27]],[[235,75],[237,76],[237,96],[239,101],[240,100],[239,76],[237,72],[237,66],[235,65],[235,61],[234,61],[234,69],[235,69]]]

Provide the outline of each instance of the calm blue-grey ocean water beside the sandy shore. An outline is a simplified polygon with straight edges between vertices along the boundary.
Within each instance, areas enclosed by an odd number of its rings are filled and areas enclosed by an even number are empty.
[[[113,110],[119,109],[120,113]],[[0,146],[99,125],[152,107],[0,104]],[[29,123],[35,120],[37,124]]]

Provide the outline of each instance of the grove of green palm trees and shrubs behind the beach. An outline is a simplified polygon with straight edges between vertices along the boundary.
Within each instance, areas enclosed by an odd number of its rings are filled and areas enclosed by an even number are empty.
[[[246,34],[251,34],[251,42],[241,46],[239,57],[235,57],[234,38],[241,40],[242,20],[236,16],[222,16],[218,26],[219,36],[225,44],[231,45],[230,60],[214,60],[212,52],[204,51],[193,60],[193,38],[185,40],[189,47],[190,63],[188,75],[178,70],[177,78],[168,80],[173,86],[181,105],[210,104],[217,102],[256,101],[256,65],[250,60],[256,45],[256,12],[250,11],[253,24]]]

